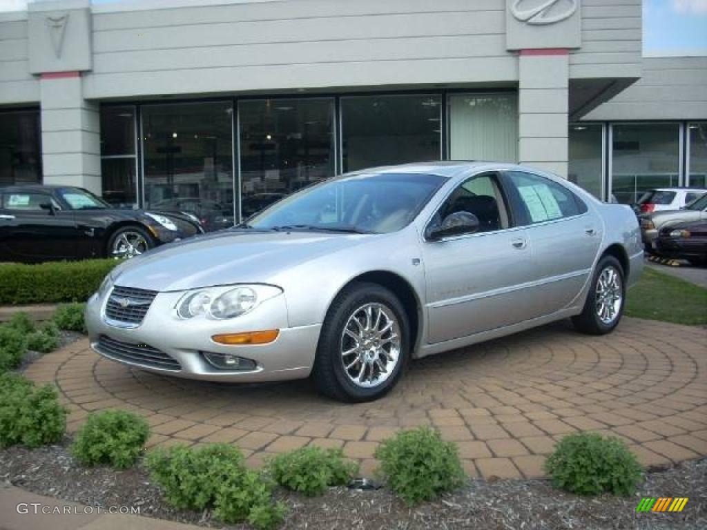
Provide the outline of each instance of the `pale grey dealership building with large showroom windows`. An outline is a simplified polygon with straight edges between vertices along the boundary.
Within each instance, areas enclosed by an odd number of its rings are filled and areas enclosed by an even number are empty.
[[[0,13],[0,186],[236,220],[440,158],[704,187],[707,57],[641,40],[641,0],[36,2]]]

